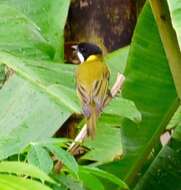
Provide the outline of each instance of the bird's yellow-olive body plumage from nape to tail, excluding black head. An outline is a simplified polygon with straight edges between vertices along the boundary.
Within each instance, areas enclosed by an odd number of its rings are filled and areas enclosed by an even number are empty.
[[[95,137],[96,120],[108,94],[109,75],[109,69],[99,54],[88,56],[76,70],[77,93],[87,120],[87,134],[92,138]]]

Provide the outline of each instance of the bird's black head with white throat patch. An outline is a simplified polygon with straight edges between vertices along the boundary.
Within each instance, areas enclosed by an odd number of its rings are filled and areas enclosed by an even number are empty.
[[[91,55],[102,55],[102,50],[95,44],[82,42],[74,47],[80,62],[84,62]]]

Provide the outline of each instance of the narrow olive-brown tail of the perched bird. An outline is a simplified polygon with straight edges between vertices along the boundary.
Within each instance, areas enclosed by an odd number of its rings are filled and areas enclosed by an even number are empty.
[[[87,135],[92,139],[95,138],[96,135],[96,111],[93,111],[91,116],[87,118]]]

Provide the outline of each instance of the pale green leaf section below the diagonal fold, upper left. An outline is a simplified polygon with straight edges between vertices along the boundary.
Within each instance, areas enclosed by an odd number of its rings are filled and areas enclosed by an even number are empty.
[[[50,59],[54,51],[34,22],[4,4],[0,5],[0,50],[38,59]]]

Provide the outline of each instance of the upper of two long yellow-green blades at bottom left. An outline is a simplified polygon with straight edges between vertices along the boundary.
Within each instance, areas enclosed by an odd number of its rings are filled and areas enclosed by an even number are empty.
[[[25,162],[3,161],[0,163],[0,172],[7,172],[16,175],[26,175],[40,179],[41,181],[55,183],[53,179],[46,175],[46,173],[44,173],[37,167],[27,164]]]

